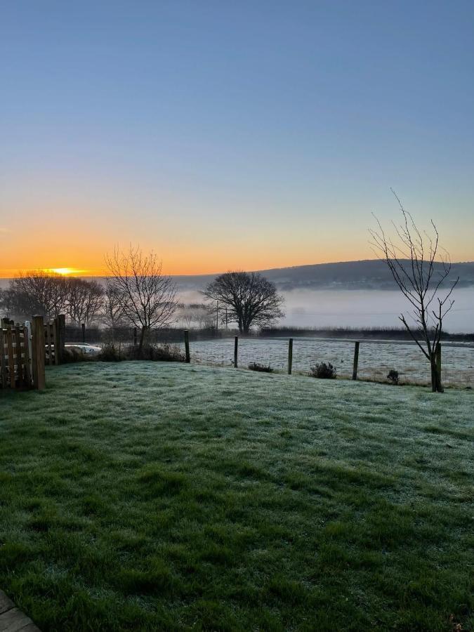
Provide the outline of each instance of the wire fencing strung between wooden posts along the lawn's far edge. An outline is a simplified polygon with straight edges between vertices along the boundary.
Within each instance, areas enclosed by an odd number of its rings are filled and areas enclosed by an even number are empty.
[[[103,345],[111,339],[126,346],[136,345],[138,332],[130,327],[112,330],[66,327],[66,341],[82,341]],[[317,362],[331,362],[340,378],[353,374],[353,339],[327,336],[297,336],[293,338],[293,373],[308,374]],[[356,332],[354,332],[357,335]],[[232,332],[215,329],[190,329],[191,362],[232,367],[234,336]],[[150,332],[148,343],[172,343],[184,352],[183,329],[169,328]],[[273,371],[288,370],[289,336],[239,337],[238,366],[246,368],[256,362]],[[407,340],[362,339],[360,341],[357,378],[387,381],[388,371],[398,372],[400,383],[428,384],[430,367],[417,345]],[[474,342],[442,341],[442,381],[446,386],[474,388]]]

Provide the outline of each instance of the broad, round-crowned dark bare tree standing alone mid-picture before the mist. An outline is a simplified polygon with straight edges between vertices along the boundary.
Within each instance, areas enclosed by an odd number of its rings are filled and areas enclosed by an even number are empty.
[[[237,323],[241,334],[284,316],[284,298],[259,272],[225,272],[209,283],[203,294],[227,305],[229,320]]]

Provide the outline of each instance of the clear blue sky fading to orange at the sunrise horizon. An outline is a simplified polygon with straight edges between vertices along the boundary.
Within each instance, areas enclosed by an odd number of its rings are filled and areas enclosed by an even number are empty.
[[[474,3],[0,0],[0,276],[474,260]],[[78,272],[79,273],[79,272]]]

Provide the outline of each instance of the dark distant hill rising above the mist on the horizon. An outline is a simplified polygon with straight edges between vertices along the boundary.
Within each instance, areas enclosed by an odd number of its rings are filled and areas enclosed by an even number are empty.
[[[440,270],[440,267],[438,268]],[[296,265],[293,268],[273,268],[260,272],[280,290],[293,289],[397,289],[385,261],[345,261]],[[474,261],[453,263],[454,279],[459,275],[459,287],[474,286]],[[180,275],[174,277],[180,289],[204,289],[216,275]]]

